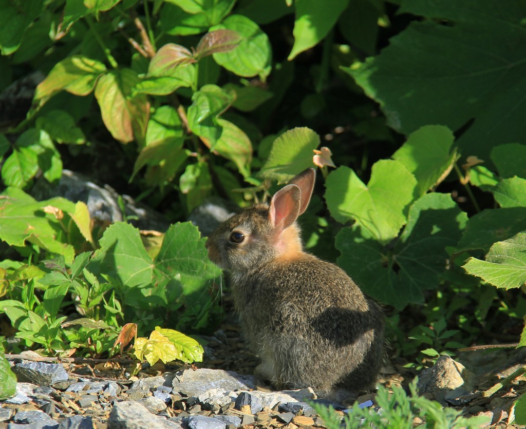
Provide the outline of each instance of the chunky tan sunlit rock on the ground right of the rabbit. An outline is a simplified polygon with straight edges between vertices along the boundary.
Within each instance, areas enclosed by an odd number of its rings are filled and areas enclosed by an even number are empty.
[[[449,356],[440,356],[435,364],[423,370],[418,380],[420,394],[431,393],[442,405],[447,405],[445,394],[462,386],[470,391],[474,382],[473,374]]]

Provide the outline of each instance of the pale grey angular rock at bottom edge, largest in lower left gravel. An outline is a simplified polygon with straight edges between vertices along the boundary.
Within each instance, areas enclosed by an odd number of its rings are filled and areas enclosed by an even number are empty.
[[[109,413],[108,429],[183,429],[178,423],[151,414],[135,401],[117,402]]]

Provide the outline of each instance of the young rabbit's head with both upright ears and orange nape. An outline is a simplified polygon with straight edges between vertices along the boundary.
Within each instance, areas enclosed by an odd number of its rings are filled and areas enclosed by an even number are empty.
[[[232,273],[246,273],[271,260],[302,253],[296,219],[309,204],[315,170],[305,170],[274,194],[270,205],[257,204],[227,219],[208,238],[211,261]]]

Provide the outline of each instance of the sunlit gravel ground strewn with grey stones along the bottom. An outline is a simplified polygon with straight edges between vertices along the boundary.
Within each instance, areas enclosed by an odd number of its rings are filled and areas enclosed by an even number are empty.
[[[126,376],[124,360],[57,363],[34,362],[31,355],[27,356],[29,360],[12,356],[19,383],[17,394],[1,403],[0,427],[326,427],[311,404],[327,401],[316,399],[310,389],[275,392],[246,375],[258,362],[245,350],[237,326],[226,325],[208,340],[205,361],[199,367],[156,365],[145,367],[138,377]],[[517,367],[500,352],[486,356],[490,357],[473,360],[470,365],[487,371],[508,363],[501,376]],[[515,390],[520,384],[484,398],[476,392],[487,389],[492,381],[445,356],[419,375],[421,393],[443,405],[461,409],[466,415],[488,415],[494,427],[506,427],[510,421],[511,405],[517,397]],[[380,382],[387,386],[406,384],[412,376],[395,362],[386,365]],[[359,397],[359,402],[374,407],[374,395]],[[343,407],[336,408],[343,416]]]

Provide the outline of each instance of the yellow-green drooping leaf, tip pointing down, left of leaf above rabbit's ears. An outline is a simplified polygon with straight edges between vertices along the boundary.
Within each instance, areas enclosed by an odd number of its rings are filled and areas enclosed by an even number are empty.
[[[245,132],[225,119],[218,118],[217,124],[222,132],[214,145],[214,151],[236,164],[242,176],[250,175],[252,143]]]

